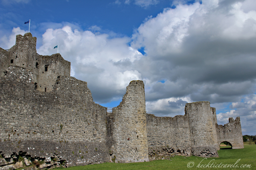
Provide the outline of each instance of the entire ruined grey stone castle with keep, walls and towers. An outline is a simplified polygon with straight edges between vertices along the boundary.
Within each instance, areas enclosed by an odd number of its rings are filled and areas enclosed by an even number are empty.
[[[0,88],[0,170],[218,157],[224,141],[244,147],[240,118],[218,125],[209,102],[187,103],[183,116],[146,113],[140,80],[130,82],[108,113],[93,102],[87,82],[70,77],[70,62],[37,54],[31,33],[0,48]]]

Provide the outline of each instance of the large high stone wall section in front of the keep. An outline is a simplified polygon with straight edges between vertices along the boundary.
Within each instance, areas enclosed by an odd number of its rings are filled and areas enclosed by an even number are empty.
[[[87,83],[59,77],[52,92],[35,90],[33,74],[9,67],[0,78],[0,152],[66,160],[67,166],[110,160],[106,111]]]

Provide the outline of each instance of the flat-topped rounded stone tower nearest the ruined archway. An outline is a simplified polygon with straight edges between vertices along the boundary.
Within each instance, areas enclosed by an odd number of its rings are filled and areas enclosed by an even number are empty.
[[[190,129],[191,153],[195,156],[218,157],[216,130],[210,102],[187,103],[185,115],[188,116]]]

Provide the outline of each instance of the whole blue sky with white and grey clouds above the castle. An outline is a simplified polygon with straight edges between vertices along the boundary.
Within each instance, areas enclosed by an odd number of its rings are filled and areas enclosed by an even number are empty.
[[[59,45],[95,102],[115,107],[141,79],[147,113],[209,101],[218,124],[240,116],[243,134],[256,134],[254,0],[0,0],[0,47],[29,19],[38,54]]]

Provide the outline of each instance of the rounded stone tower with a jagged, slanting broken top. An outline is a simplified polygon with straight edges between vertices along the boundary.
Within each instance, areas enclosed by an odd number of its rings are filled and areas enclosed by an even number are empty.
[[[122,102],[110,115],[112,160],[120,163],[148,161],[143,81],[130,82]]]

